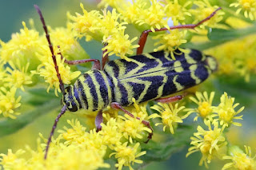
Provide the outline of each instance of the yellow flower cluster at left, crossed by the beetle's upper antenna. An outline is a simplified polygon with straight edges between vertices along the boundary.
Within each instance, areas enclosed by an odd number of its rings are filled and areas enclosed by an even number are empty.
[[[55,88],[58,96],[59,81],[54,69],[54,62],[51,57],[50,49],[44,35],[40,36],[37,30],[28,29],[26,23],[22,22],[23,29],[20,33],[12,35],[9,42],[2,42],[0,50],[0,88],[1,107],[0,113],[4,117],[16,118],[18,115],[15,110],[21,105],[21,97],[15,94],[20,89],[25,91],[26,86],[34,86],[38,83],[38,77],[44,77],[49,83],[50,88]],[[33,26],[32,26],[33,27]],[[78,59],[79,57],[89,57],[81,45],[75,39],[74,31],[70,29],[57,28],[50,31],[50,36],[54,42],[55,53],[57,45],[60,45],[62,56],[68,59]],[[78,56],[78,57],[76,57]],[[58,68],[61,73],[62,81],[70,84],[72,80],[80,75],[80,72],[72,72],[68,65],[64,65],[64,60],[57,55]]]

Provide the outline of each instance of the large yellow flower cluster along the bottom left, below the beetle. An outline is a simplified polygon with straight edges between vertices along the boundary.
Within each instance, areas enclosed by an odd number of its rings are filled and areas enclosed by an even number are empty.
[[[139,156],[145,155],[146,151],[141,151],[139,140],[145,141],[150,128],[146,128],[141,121],[132,117],[110,117],[104,114],[106,124],[102,124],[102,130],[96,129],[86,132],[86,128],[78,120],[67,121],[71,128],[64,127],[59,130],[61,134],[50,144],[47,160],[43,159],[46,144],[38,142],[38,150],[33,151],[26,148],[31,153],[31,157],[26,159],[22,155],[23,150],[12,153],[1,154],[0,164],[4,168],[37,168],[37,169],[98,169],[109,168],[110,165],[104,163],[105,157],[114,157],[118,163],[115,164],[119,170],[123,166],[130,169],[134,163],[142,164],[138,160]],[[42,137],[42,135],[40,134]],[[47,140],[42,137],[46,142]],[[112,151],[112,152],[110,152]],[[72,158],[72,159],[70,159]],[[63,164],[65,163],[65,164]]]

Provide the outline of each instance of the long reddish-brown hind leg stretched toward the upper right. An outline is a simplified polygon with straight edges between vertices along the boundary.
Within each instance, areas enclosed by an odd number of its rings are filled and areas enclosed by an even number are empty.
[[[161,28],[161,29],[155,29],[156,32],[158,31],[163,31],[163,30],[174,30],[174,29],[194,29],[195,27],[201,25],[203,22],[206,22],[208,20],[210,20],[210,18],[214,17],[214,14],[216,14],[216,12],[218,10],[221,10],[222,8],[219,7],[217,10],[214,10],[214,12],[212,14],[210,14],[209,17],[203,19],[201,22],[198,22],[197,24],[188,24],[188,25],[180,25],[180,26],[170,26],[169,29],[167,28]],[[146,38],[148,36],[149,33],[151,33],[152,30],[144,30],[141,34],[141,37],[138,40],[138,49],[137,49],[137,55],[142,54],[144,46],[146,44]]]

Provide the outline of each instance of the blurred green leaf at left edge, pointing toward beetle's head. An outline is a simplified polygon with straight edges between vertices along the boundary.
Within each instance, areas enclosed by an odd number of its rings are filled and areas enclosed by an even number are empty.
[[[13,132],[17,132],[26,125],[36,120],[38,117],[52,112],[54,109],[58,109],[59,100],[54,99],[38,106],[32,110],[29,110],[22,115],[18,116],[17,119],[3,118],[0,120],[0,137],[9,135]]]

